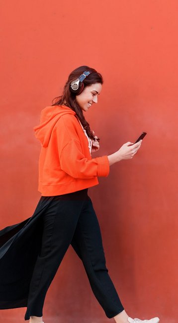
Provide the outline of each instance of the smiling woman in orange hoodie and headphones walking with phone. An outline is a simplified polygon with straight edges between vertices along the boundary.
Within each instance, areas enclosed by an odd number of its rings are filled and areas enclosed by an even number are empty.
[[[118,151],[92,158],[99,138],[90,130],[83,111],[96,104],[103,79],[81,66],[69,76],[63,94],[41,112],[34,127],[41,143],[39,187],[41,198],[33,216],[0,232],[0,308],[27,307],[25,320],[42,323],[47,290],[71,244],[83,261],[91,289],[107,318],[116,323],[141,321],[125,312],[108,275],[98,220],[88,188],[109,167],[132,159],[141,142],[127,142]]]

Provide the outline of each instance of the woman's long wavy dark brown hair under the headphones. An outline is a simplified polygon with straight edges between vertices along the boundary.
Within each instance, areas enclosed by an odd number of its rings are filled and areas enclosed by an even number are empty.
[[[103,78],[100,73],[98,73],[96,70],[90,68],[89,66],[80,66],[77,69],[75,69],[73,72],[71,72],[71,74],[69,75],[68,81],[66,82],[66,84],[64,86],[62,95],[55,97],[52,100],[52,105],[66,105],[66,106],[70,107],[73,111],[75,111],[77,117],[79,118],[84,129],[86,130],[89,138],[95,140],[93,133],[90,130],[89,123],[87,122],[87,120],[84,117],[83,110],[81,109],[81,107],[79,106],[79,104],[76,101],[77,94],[72,93],[70,90],[70,83],[72,81],[76,80],[77,78],[79,78],[80,75],[82,73],[84,73],[85,71],[89,71],[90,74],[83,81],[84,88],[86,86],[89,86],[89,85],[95,84],[95,83],[103,84]],[[97,140],[99,141],[100,139],[97,138]]]

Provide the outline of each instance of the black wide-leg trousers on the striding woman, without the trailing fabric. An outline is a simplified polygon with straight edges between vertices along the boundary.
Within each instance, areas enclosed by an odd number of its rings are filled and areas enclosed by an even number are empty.
[[[42,207],[48,197],[41,196]],[[83,261],[91,289],[108,318],[124,310],[108,275],[100,228],[88,188],[54,196],[43,215],[43,236],[28,295],[25,320],[41,317],[47,290],[71,244]]]

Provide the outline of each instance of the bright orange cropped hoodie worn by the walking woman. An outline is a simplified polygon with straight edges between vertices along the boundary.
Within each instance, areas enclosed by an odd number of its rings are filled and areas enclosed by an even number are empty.
[[[47,106],[33,129],[42,146],[38,185],[42,196],[75,192],[97,185],[97,176],[108,176],[107,156],[91,158],[88,138],[71,108]]]

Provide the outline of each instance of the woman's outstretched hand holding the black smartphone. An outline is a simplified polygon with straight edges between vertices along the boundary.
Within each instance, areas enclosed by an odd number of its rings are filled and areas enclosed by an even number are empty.
[[[142,140],[140,140],[134,145],[129,141],[126,144],[123,144],[121,148],[115,153],[118,158],[118,161],[121,161],[123,159],[132,159],[133,156],[138,152],[139,148],[141,147],[141,144]]]

